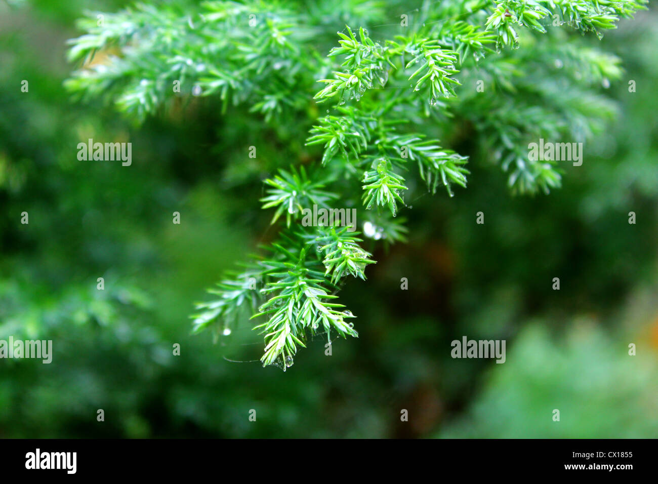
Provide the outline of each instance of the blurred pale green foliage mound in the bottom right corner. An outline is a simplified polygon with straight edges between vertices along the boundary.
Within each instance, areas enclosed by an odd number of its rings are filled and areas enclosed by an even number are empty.
[[[545,325],[531,324],[515,339],[507,362],[488,371],[467,415],[440,436],[653,437],[658,433],[658,368],[644,350],[629,358],[626,349],[595,321],[573,321],[557,341]],[[559,421],[546,418],[554,410]]]

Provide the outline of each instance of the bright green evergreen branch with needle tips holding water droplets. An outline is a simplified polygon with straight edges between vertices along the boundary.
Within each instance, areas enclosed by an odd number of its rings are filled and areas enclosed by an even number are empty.
[[[563,169],[528,159],[526,146],[603,130],[615,106],[601,84],[619,79],[620,59],[580,34],[600,38],[646,1],[405,4],[181,1],[80,20],[86,34],[69,50],[80,69],[66,82],[78,97],[104,99],[138,123],[182,100],[216,98],[222,112],[248,111],[267,123],[263,138],[288,144],[291,166],[265,165],[278,175],[261,199],[278,235],[210,290],[216,298],[197,305],[194,331],[228,335],[251,315],[263,365],[284,369],[309,336],[357,336],[336,293],[347,276],[365,279],[374,260],[359,232],[305,227],[303,210],[363,207],[361,220],[390,244],[405,240],[397,215],[418,180],[455,196],[473,161],[499,165],[515,194],[559,188]],[[460,153],[465,139],[478,149]]]

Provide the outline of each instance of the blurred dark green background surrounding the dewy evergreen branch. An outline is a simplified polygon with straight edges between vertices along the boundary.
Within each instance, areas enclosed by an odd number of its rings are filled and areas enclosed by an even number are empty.
[[[54,348],[49,365],[0,360],[0,437],[658,436],[655,4],[601,41],[626,70],[607,88],[619,116],[561,190],[511,196],[499,169],[471,163],[455,198],[417,198],[409,243],[370,246],[368,280],[341,293],[359,338],[331,357],[312,342],[285,373],[251,361],[262,344],[246,321],[214,344],[189,315],[268,239],[260,181],[299,161],[277,143],[303,138],[212,99],[140,127],[72,101],[76,18],[124,5],[0,2],[0,339]],[[278,140],[260,145],[268,165],[235,146],[258,132]],[[130,140],[132,167],[78,161],[88,138]],[[453,360],[463,335],[507,340],[507,362]]]

